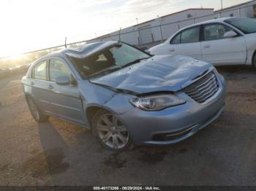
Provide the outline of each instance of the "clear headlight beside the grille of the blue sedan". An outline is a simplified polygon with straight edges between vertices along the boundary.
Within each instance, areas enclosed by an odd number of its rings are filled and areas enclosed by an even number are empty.
[[[170,106],[178,106],[186,103],[186,101],[173,94],[148,95],[140,98],[132,98],[129,101],[139,109],[147,111],[159,111]]]

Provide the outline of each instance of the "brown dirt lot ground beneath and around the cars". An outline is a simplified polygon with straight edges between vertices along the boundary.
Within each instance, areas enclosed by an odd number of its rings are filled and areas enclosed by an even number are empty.
[[[20,77],[0,81],[0,185],[256,185],[256,72],[218,68],[227,104],[218,120],[168,147],[109,152],[89,130],[37,124]]]

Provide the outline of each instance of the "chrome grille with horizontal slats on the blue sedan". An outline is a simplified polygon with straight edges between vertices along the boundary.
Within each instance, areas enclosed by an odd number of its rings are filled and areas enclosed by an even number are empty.
[[[184,88],[190,98],[203,104],[208,98],[211,98],[219,88],[217,78],[213,71],[198,79],[196,82]]]

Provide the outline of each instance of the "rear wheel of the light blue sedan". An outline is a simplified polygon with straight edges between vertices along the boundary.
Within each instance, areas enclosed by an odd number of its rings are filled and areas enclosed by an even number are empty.
[[[34,100],[32,98],[26,98],[26,101],[29,106],[29,111],[34,117],[34,120],[36,120],[37,122],[45,122],[48,120],[49,116],[42,114],[42,111],[39,109],[37,104],[34,103]]]

